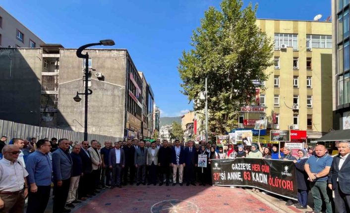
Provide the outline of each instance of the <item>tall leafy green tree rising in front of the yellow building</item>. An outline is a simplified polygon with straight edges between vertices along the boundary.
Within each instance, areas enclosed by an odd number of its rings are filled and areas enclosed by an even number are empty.
[[[193,31],[192,49],[183,51],[178,72],[182,93],[202,110],[199,93],[208,79],[209,134],[236,127],[241,106],[249,105],[255,88],[269,77],[273,41],[256,25],[257,5],[242,8],[242,0],[223,0],[221,11],[210,7]]]

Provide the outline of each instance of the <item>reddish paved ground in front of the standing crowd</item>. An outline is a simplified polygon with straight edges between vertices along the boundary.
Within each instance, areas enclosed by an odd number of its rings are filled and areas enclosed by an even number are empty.
[[[72,213],[303,213],[250,189],[220,186],[126,186],[106,189]],[[311,209],[309,209],[310,211]],[[46,213],[52,212],[52,199]]]

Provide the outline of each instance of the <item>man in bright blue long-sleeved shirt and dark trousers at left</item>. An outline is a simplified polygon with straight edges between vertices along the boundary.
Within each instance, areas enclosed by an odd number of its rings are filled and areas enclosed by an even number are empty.
[[[52,182],[52,162],[49,157],[51,143],[40,139],[37,150],[27,158],[28,183],[30,186],[27,213],[44,213],[48,205]]]

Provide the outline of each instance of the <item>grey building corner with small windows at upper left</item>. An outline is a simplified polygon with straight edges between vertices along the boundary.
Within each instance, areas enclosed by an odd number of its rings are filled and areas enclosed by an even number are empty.
[[[40,47],[44,42],[0,6],[0,47]]]

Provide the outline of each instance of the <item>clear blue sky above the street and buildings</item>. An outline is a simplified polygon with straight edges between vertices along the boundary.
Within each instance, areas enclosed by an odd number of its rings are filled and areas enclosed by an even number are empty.
[[[1,0],[0,6],[46,43],[77,48],[113,39],[125,48],[155,94],[161,117],[192,109],[180,93],[177,72],[192,31],[210,6],[221,0]],[[322,21],[331,15],[331,0],[244,0],[258,3],[257,18]]]

